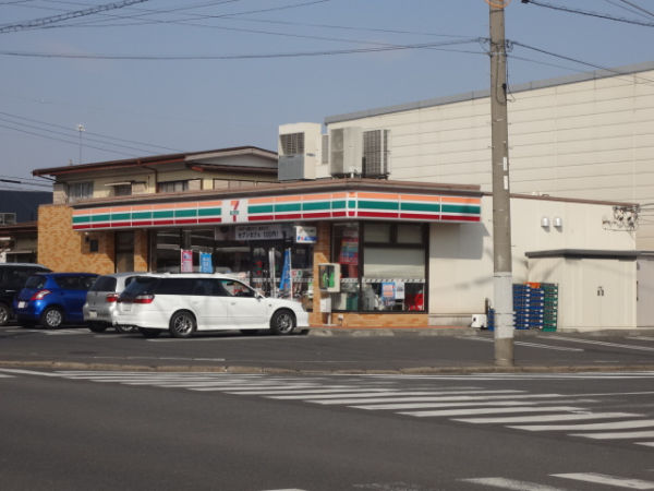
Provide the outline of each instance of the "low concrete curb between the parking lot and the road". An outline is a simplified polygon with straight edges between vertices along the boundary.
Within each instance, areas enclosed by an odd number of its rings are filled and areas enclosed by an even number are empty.
[[[11,369],[50,369],[50,370],[98,370],[98,371],[134,371],[134,372],[215,372],[237,374],[471,374],[471,373],[579,373],[579,372],[642,372],[654,371],[654,364],[625,364],[611,367],[597,366],[465,366],[465,367],[410,367],[396,370],[387,369],[292,369],[276,367],[247,367],[247,366],[147,366],[147,364],[118,364],[118,363],[84,363],[68,361],[2,361],[0,368]]]

